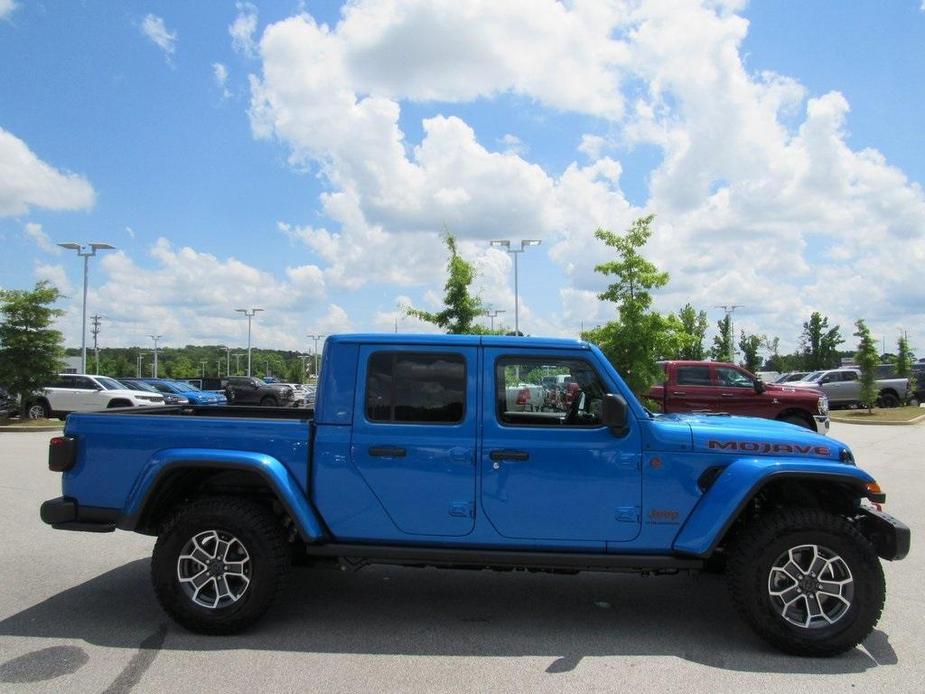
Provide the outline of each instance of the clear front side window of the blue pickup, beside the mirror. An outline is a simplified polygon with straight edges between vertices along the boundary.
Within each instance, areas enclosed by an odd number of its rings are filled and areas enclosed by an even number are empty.
[[[495,362],[498,421],[520,426],[600,426],[607,390],[581,359],[503,357]]]

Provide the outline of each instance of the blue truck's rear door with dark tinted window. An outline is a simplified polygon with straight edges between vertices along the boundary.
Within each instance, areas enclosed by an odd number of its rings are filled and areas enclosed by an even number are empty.
[[[360,349],[352,461],[409,535],[474,527],[478,356],[445,345]]]

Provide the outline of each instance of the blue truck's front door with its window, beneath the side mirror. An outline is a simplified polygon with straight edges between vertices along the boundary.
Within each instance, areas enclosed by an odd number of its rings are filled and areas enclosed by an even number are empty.
[[[547,387],[540,411],[508,397],[566,375],[562,397]],[[617,392],[587,352],[486,349],[481,450],[482,506],[503,536],[619,542],[639,533],[639,427],[617,438],[601,424],[604,395]],[[545,380],[544,380],[545,378]],[[514,403],[512,405],[512,403]]]

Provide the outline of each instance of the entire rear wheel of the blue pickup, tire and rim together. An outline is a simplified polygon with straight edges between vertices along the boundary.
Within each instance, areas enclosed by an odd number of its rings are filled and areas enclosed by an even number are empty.
[[[164,526],[151,557],[161,606],[182,626],[231,634],[256,622],[289,569],[276,518],[247,499],[200,499]]]

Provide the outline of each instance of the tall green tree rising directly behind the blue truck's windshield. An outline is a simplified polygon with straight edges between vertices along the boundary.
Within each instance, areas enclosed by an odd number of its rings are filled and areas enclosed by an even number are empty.
[[[668,273],[659,272],[639,253],[652,235],[654,219],[650,215],[635,220],[623,236],[607,229],[594,232],[596,238],[616,250],[616,260],[594,269],[615,280],[598,298],[616,304],[617,319],[582,334],[600,346],[637,395],[645,394],[660,377],[656,361],[675,354],[681,342],[680,320],[652,310],[651,291],[668,283]]]

